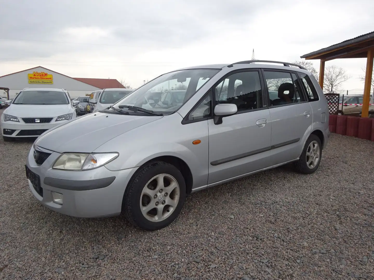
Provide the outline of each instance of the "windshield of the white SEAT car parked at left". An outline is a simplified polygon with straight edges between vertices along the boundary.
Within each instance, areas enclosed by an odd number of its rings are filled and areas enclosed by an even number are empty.
[[[63,91],[30,90],[21,91],[15,98],[13,104],[27,105],[62,105],[69,104]]]

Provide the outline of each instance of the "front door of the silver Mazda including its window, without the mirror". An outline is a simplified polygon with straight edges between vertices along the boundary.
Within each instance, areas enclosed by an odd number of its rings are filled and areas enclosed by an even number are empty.
[[[234,103],[237,113],[224,117],[222,124],[208,119],[208,185],[269,166],[272,133],[258,70],[230,72],[213,91],[214,105]]]

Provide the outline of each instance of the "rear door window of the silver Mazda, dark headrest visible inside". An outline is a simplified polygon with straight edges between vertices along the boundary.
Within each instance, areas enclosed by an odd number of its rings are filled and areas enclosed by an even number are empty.
[[[296,75],[292,74],[294,79]],[[264,71],[269,90],[270,106],[293,104],[304,101],[300,84],[289,72]]]

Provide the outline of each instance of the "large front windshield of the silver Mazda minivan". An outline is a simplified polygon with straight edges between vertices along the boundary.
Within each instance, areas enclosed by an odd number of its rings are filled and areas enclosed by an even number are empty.
[[[114,106],[130,105],[153,112],[177,111],[220,69],[187,69],[170,72],[135,90]]]

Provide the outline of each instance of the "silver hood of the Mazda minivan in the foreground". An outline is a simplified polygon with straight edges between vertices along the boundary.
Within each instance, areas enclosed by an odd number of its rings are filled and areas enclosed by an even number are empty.
[[[35,144],[59,153],[91,153],[110,139],[160,118],[162,116],[91,113],[52,128],[43,133]],[[116,147],[113,147],[113,152],[115,150]]]

